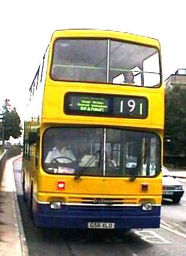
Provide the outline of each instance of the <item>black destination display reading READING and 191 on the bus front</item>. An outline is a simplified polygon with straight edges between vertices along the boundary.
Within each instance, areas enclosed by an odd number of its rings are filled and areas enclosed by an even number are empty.
[[[111,117],[146,118],[148,101],[145,97],[68,93],[65,113]]]

